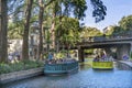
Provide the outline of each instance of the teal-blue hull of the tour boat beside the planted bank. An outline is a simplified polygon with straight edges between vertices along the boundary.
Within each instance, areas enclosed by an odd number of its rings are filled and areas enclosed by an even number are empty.
[[[45,63],[44,74],[45,75],[61,75],[69,74],[78,70],[78,62],[63,62],[63,63]]]

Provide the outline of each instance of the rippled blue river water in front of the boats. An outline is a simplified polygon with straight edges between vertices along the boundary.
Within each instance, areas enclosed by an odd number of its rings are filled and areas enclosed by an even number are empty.
[[[94,70],[89,64],[81,64],[77,74],[38,76],[2,88],[132,88],[132,70]]]

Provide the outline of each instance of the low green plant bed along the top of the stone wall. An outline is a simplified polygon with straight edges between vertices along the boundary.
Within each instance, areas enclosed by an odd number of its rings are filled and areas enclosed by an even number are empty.
[[[30,68],[43,67],[43,63],[37,61],[23,61],[13,64],[0,64],[0,74],[25,70]]]

